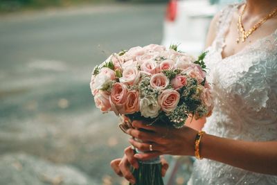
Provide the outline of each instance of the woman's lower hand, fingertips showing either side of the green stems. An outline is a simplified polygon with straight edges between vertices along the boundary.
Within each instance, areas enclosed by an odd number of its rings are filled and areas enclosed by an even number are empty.
[[[124,152],[125,155],[123,158],[111,161],[111,168],[113,168],[117,175],[125,177],[127,181],[135,184],[136,179],[132,175],[129,167],[133,166],[134,168],[139,168],[139,161],[134,157],[134,150],[130,146],[125,148]],[[166,175],[166,170],[168,170],[168,163],[163,157],[161,157],[161,165],[161,175],[164,177]]]

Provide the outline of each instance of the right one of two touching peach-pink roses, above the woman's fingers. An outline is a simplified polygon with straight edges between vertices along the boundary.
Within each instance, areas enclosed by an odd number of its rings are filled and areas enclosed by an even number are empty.
[[[139,92],[138,91],[128,91],[127,98],[125,101],[125,114],[133,114],[139,111]]]

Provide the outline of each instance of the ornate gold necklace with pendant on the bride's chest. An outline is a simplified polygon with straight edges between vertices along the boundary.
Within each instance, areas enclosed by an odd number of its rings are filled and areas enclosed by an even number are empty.
[[[242,12],[240,13],[240,16],[238,17],[238,39],[237,43],[240,43],[240,41],[244,42],[249,35],[253,33],[257,28],[259,28],[262,24],[265,23],[268,19],[271,19],[275,15],[277,15],[277,7],[270,12],[268,15],[266,15],[264,18],[260,19],[258,23],[256,23],[252,28],[250,28],[248,31],[244,30],[244,27],[242,25],[242,15],[244,14],[245,8],[247,7],[247,4],[244,4],[244,7],[242,9]]]

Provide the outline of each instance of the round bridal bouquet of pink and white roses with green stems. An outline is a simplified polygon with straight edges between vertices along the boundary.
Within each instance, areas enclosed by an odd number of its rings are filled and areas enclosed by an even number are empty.
[[[123,131],[132,127],[133,120],[179,128],[188,116],[208,116],[213,99],[205,56],[202,53],[196,60],[177,51],[177,45],[166,49],[156,44],[113,53],[91,75],[96,107],[120,116]],[[133,174],[136,184],[163,184],[159,158],[140,161]]]

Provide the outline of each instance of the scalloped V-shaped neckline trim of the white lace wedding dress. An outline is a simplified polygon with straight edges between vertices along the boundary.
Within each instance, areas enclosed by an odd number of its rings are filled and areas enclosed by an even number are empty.
[[[260,37],[258,39],[256,39],[254,42],[252,42],[251,44],[248,44],[246,46],[244,46],[242,49],[240,49],[240,51],[238,51],[237,53],[234,53],[233,55],[229,55],[229,56],[226,56],[226,57],[223,57],[222,55],[222,52],[224,50],[224,46],[226,45],[226,32],[227,30],[229,30],[230,26],[231,26],[231,21],[233,19],[233,13],[235,12],[235,10],[238,10],[238,8],[242,5],[243,3],[238,3],[236,4],[235,6],[233,6],[233,10],[231,11],[231,16],[229,16],[229,19],[226,20],[226,26],[223,30],[223,33],[222,33],[222,43],[220,44],[220,49],[218,50],[220,52],[220,59],[222,61],[224,60],[228,60],[230,58],[233,58],[237,55],[240,55],[241,53],[244,53],[245,51],[247,51],[248,49],[252,48],[253,46],[255,46],[258,42],[262,42],[263,40],[271,37],[272,35],[276,34],[277,33],[277,28],[272,32],[270,33],[269,35],[266,35],[265,37]]]

